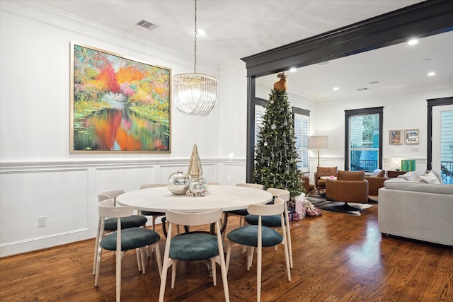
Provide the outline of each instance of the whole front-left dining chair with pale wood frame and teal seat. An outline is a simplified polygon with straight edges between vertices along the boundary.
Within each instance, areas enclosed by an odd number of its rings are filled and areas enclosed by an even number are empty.
[[[98,252],[96,277],[94,286],[98,286],[99,269],[101,267],[102,249],[112,250],[116,253],[116,301],[120,301],[121,296],[121,260],[127,250],[137,250],[137,255],[142,262],[142,273],[145,274],[144,248],[151,245],[156,250],[156,262],[159,275],[162,273],[161,252],[159,250],[159,240],[161,236],[148,228],[121,228],[122,218],[130,217],[134,213],[132,207],[115,206],[113,199],[106,199],[98,203],[98,212],[101,216],[101,224],[105,223],[105,217],[117,219],[117,231],[104,236],[99,243],[101,250]]]

